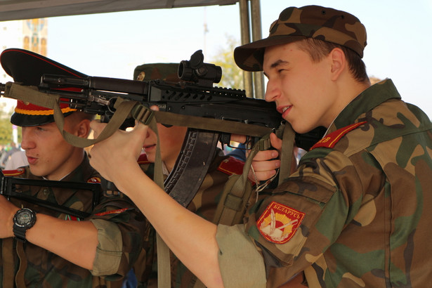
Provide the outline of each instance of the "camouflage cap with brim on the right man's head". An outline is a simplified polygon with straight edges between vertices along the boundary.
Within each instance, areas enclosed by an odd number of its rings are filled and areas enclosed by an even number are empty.
[[[243,70],[261,71],[266,47],[305,38],[346,46],[362,58],[366,46],[366,29],[358,18],[344,11],[322,6],[289,7],[270,25],[267,38],[235,48],[235,63]]]

